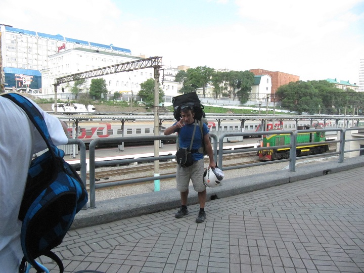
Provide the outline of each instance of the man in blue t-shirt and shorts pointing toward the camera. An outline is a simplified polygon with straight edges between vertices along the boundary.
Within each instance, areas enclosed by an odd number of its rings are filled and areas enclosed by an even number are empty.
[[[177,164],[176,181],[177,190],[180,192],[181,197],[181,207],[174,216],[176,218],[181,218],[189,213],[187,209],[187,198],[191,179],[194,190],[198,192],[198,200],[200,203],[200,211],[196,218],[196,222],[201,223],[206,219],[206,186],[203,183],[204,155],[203,149],[201,149],[203,146],[205,146],[207,155],[210,159],[208,169],[216,166],[213,159],[212,146],[209,140],[209,129],[207,125],[203,123],[203,135],[201,135],[198,120],[195,119],[194,108],[191,105],[186,104],[180,107],[180,120],[164,130],[165,135],[175,132],[178,132],[179,142],[177,154],[181,153],[181,158],[184,159],[185,157],[191,156],[192,165],[189,163]]]

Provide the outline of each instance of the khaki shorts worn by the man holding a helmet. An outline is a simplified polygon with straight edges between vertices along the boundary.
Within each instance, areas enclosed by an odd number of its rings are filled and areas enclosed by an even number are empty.
[[[177,190],[186,192],[190,185],[190,179],[196,192],[203,192],[206,186],[203,183],[204,160],[195,161],[190,167],[181,167],[177,164],[176,180]]]

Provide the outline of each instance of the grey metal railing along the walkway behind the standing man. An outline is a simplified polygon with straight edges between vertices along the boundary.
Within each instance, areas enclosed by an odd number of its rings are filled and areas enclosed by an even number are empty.
[[[275,164],[279,162],[285,162],[289,161],[289,171],[294,172],[296,171],[296,146],[297,146],[297,134],[298,133],[307,133],[307,132],[329,132],[329,131],[336,131],[338,134],[340,134],[339,140],[333,140],[333,141],[326,141],[325,143],[331,144],[331,143],[338,143],[338,151],[336,152],[329,152],[325,153],[325,155],[338,155],[339,159],[338,162],[344,162],[344,154],[348,152],[355,152],[355,151],[364,151],[364,148],[360,149],[351,149],[345,151],[345,143],[352,142],[352,141],[359,141],[364,140],[364,138],[357,138],[357,139],[350,139],[345,140],[345,134],[347,131],[352,130],[358,130],[358,127],[355,128],[330,128],[330,129],[307,129],[307,130],[274,130],[274,131],[261,131],[261,132],[236,132],[236,133],[223,133],[219,136],[217,139],[216,135],[210,134],[213,141],[213,152],[214,152],[214,160],[217,162],[217,165],[222,170],[230,170],[230,169],[237,169],[237,168],[246,168],[246,167],[252,167],[252,166],[259,166],[259,165],[267,165],[267,164]],[[289,145],[282,145],[282,146],[275,146],[275,148],[289,148],[290,149],[290,156],[287,159],[280,159],[280,160],[274,160],[274,161],[265,161],[265,162],[257,162],[257,163],[249,163],[249,164],[238,164],[235,166],[223,166],[223,155],[224,154],[232,154],[232,153],[242,153],[242,152],[251,152],[251,151],[260,151],[260,150],[267,150],[267,147],[258,147],[258,148],[247,148],[247,149],[240,149],[240,150],[224,150],[223,149],[223,141],[224,138],[231,138],[235,136],[250,136],[250,135],[271,135],[271,134],[290,134],[290,144]],[[93,140],[89,145],[89,201],[90,201],[90,208],[96,208],[96,189],[100,188],[106,188],[110,186],[120,186],[120,185],[130,185],[130,184],[136,184],[136,183],[142,183],[146,181],[153,181],[153,180],[160,180],[160,179],[170,179],[174,178],[175,174],[168,174],[168,175],[158,175],[158,176],[150,176],[150,177],[144,177],[144,178],[134,178],[134,179],[128,179],[123,181],[114,181],[112,183],[104,183],[102,185],[96,185],[95,183],[95,168],[98,166],[106,166],[112,164],[128,164],[128,163],[138,163],[138,162],[152,162],[152,161],[158,161],[158,160],[170,160],[174,159],[175,155],[165,155],[165,156],[154,156],[154,157],[148,157],[148,158],[135,158],[135,159],[119,159],[119,160],[112,160],[112,161],[95,161],[95,148],[97,144],[101,143],[107,143],[107,144],[118,144],[118,143],[126,143],[126,142],[150,142],[150,141],[170,141],[175,140],[175,135],[158,135],[158,136],[135,136],[135,137],[120,137],[120,138],[113,138],[113,139],[96,139]],[[71,141],[71,140],[70,140]],[[72,141],[78,141],[78,140],[72,140]],[[315,143],[300,143],[299,145],[315,145],[315,144],[322,144],[322,142],[315,142]],[[81,154],[82,155],[82,154]],[[317,155],[307,155],[307,156],[300,156],[300,159],[305,158],[313,158],[322,156],[322,154]],[[81,170],[85,170],[85,160],[81,157]],[[82,172],[81,171],[81,172]],[[85,172],[84,172],[85,177]],[[82,176],[81,176],[82,178]],[[83,180],[83,178],[82,178]]]

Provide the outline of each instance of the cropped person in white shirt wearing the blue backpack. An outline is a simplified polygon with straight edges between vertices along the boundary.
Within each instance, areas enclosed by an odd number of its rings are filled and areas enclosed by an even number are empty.
[[[67,144],[67,125],[41,112],[55,145]],[[42,137],[17,105],[0,96],[0,272],[19,272],[24,256],[18,219],[32,155],[47,148]]]

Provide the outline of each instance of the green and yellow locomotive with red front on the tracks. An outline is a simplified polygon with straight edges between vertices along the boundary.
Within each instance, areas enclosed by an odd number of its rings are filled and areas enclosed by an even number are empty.
[[[300,126],[297,129],[321,129],[322,127]],[[329,151],[329,145],[325,143],[325,132],[306,132],[297,134],[296,156],[322,154]],[[290,148],[274,148],[275,146],[289,145],[290,134],[269,134],[263,135],[260,147],[269,147],[267,150],[259,150],[260,160],[279,160],[289,158]],[[322,144],[310,144],[322,142]]]

